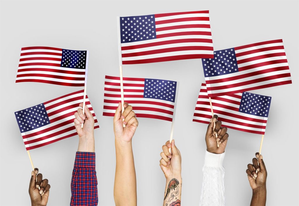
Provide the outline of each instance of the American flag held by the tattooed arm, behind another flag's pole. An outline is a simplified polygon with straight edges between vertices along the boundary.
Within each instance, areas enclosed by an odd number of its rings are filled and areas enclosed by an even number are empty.
[[[137,117],[172,121],[177,82],[163,79],[123,78],[124,100]],[[120,98],[120,78],[105,76],[103,116],[114,116]]]

